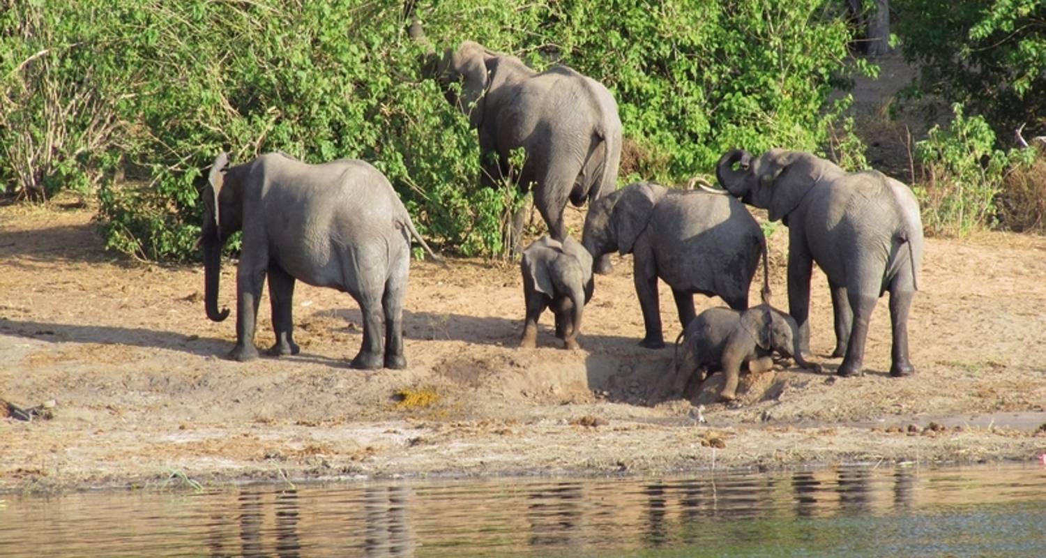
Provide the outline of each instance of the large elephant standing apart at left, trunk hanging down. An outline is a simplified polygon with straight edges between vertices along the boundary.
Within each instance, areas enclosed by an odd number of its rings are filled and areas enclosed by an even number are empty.
[[[267,153],[229,165],[221,153],[203,193],[201,244],[207,317],[222,321],[218,291],[222,248],[243,230],[236,268],[236,344],[229,358],[258,356],[254,347],[262,284],[269,277],[273,356],[296,355],[291,310],[295,281],[348,292],[363,313],[356,369],[403,369],[403,299],[413,237],[434,259],[388,179],[369,163],[340,159],[306,164]],[[383,329],[384,323],[384,329]]]

